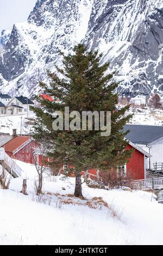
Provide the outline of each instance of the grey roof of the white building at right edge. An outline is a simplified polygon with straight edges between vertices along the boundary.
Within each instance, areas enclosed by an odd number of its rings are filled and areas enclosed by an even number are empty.
[[[148,145],[163,137],[163,126],[125,125],[124,130],[130,130],[126,138],[135,144]]]

